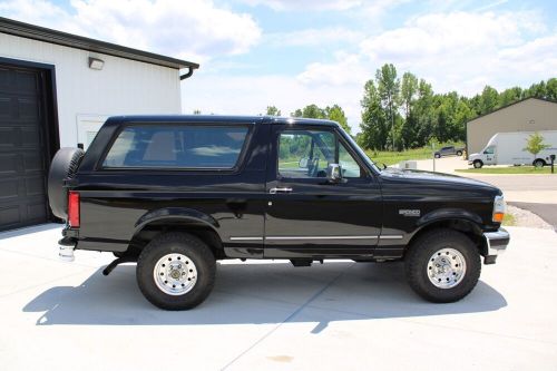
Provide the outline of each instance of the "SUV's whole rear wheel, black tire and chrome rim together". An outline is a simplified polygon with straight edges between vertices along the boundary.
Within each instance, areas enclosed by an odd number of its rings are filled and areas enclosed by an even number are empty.
[[[186,233],[166,233],[137,260],[137,284],[154,305],[169,311],[199,305],[215,284],[216,263],[208,246]]]

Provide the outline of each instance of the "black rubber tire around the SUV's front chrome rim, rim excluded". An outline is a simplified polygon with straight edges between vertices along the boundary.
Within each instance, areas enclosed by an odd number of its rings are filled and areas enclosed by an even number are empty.
[[[428,276],[428,263],[436,252],[446,247],[463,256],[466,272],[456,286],[440,289]],[[468,295],[476,286],[481,261],[478,248],[467,235],[452,230],[434,230],[412,243],[404,257],[404,270],[408,283],[417,294],[433,303],[451,303]]]

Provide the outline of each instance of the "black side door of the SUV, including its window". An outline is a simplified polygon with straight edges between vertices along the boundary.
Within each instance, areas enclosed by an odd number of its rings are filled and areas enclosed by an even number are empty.
[[[371,255],[381,231],[379,183],[334,127],[273,125],[265,257]],[[329,164],[343,179],[331,183]]]

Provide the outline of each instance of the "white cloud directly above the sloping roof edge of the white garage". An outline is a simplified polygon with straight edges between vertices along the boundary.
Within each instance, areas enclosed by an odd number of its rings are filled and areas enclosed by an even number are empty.
[[[42,0],[0,3],[0,12],[25,22],[189,60],[246,52],[261,28],[252,16],[211,0],[72,0],[71,11]]]

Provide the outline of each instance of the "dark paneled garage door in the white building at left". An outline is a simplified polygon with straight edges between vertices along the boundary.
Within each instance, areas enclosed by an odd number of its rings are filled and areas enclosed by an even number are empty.
[[[0,65],[0,231],[48,218],[40,74]]]

